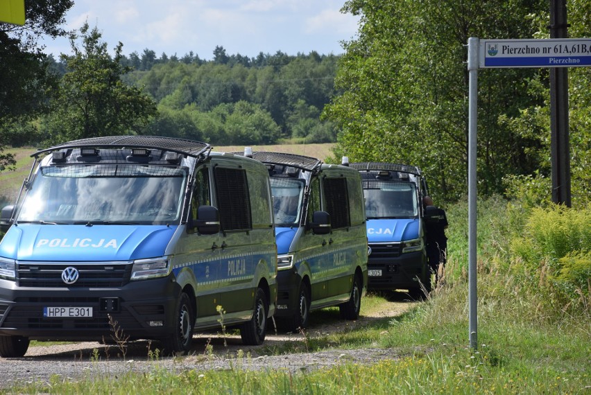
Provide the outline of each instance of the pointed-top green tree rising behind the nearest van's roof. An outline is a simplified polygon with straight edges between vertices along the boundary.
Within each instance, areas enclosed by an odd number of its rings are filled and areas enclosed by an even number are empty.
[[[139,133],[156,114],[155,103],[137,87],[121,81],[131,70],[121,64],[119,43],[114,58],[101,42],[97,28],[88,24],[80,28],[82,49],[71,38],[74,55],[61,55],[68,73],[63,76],[48,128],[53,139],[83,139],[87,137]]]

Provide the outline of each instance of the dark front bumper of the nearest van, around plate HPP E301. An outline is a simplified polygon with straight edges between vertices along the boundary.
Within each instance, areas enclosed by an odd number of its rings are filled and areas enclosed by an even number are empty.
[[[180,286],[172,275],[120,288],[17,287],[0,280],[0,335],[32,340],[159,339],[175,326]],[[92,307],[92,317],[44,317],[44,307]]]

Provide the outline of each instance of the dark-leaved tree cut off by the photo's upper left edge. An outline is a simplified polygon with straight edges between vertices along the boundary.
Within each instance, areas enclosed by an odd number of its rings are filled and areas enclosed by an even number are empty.
[[[9,132],[42,113],[46,98],[56,84],[49,71],[51,61],[37,45],[40,35],[65,36],[60,28],[71,0],[26,2],[24,26],[0,23],[0,170],[14,163],[3,146]]]

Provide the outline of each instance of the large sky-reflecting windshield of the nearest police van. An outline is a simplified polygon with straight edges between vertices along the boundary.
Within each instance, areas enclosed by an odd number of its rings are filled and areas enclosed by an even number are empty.
[[[187,170],[164,166],[42,167],[18,222],[178,224]]]

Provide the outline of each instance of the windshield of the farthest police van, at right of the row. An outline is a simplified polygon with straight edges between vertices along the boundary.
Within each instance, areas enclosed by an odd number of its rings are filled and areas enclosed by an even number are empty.
[[[416,218],[416,186],[411,182],[363,181],[366,216],[372,218]]]

